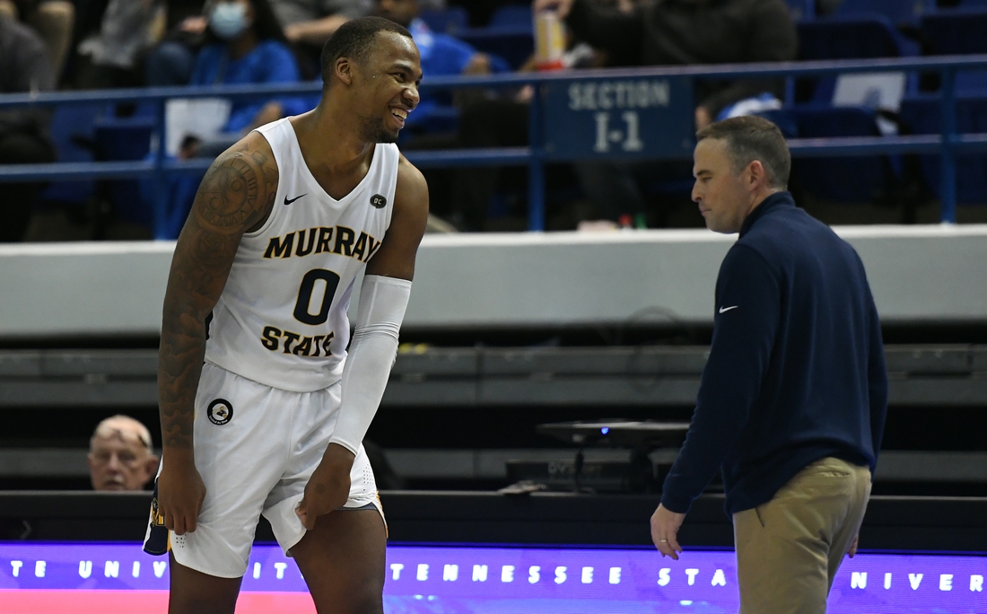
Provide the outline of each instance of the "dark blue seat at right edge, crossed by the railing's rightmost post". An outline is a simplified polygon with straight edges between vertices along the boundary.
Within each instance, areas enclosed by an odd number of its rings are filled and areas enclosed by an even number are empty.
[[[938,134],[940,101],[936,96],[906,97],[901,102],[901,119],[914,134]],[[987,96],[957,96],[956,129],[959,132],[987,132]],[[939,195],[940,157],[920,156],[922,174],[929,189]],[[987,203],[987,154],[956,156],[956,201],[962,204]]]

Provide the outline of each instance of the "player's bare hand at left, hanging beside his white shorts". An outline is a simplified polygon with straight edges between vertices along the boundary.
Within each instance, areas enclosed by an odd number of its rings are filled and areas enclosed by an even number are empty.
[[[158,512],[164,516],[165,526],[176,535],[194,531],[203,499],[205,484],[191,451],[166,449],[158,476]]]

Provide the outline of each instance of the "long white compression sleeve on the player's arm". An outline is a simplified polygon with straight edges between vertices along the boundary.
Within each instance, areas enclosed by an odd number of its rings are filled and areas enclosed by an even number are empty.
[[[405,318],[412,282],[366,275],[353,326],[349,354],[342,367],[340,419],[329,440],[353,454],[373,421],[398,355],[398,332]]]

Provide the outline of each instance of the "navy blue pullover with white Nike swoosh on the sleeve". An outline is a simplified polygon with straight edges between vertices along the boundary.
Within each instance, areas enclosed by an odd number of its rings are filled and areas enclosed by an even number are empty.
[[[744,220],[716,299],[710,358],[662,504],[687,512],[718,469],[730,514],[827,456],[873,473],[887,374],[854,249],[777,192]]]

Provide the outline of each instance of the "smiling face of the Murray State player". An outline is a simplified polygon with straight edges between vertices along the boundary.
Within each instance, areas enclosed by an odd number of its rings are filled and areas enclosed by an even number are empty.
[[[398,33],[380,32],[359,72],[364,137],[370,142],[396,141],[408,115],[418,107],[418,46]]]

